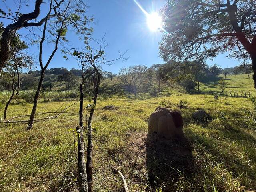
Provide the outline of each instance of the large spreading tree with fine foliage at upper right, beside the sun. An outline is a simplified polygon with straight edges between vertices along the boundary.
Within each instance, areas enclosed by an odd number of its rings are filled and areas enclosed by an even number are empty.
[[[165,61],[204,62],[229,52],[243,64],[251,60],[256,88],[255,7],[254,0],[167,0],[160,56]]]

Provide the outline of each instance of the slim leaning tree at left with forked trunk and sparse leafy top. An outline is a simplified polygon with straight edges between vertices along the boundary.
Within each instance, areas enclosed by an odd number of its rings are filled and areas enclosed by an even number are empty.
[[[60,2],[63,2],[63,0]],[[54,3],[56,4],[55,6]],[[61,8],[58,8],[59,4],[57,4],[56,0],[50,0],[50,8],[46,19],[44,20],[44,27],[42,30],[42,37],[40,38],[39,49],[39,64],[41,68],[40,80],[34,96],[34,104],[31,111],[30,120],[28,122],[27,130],[30,130],[33,126],[38,98],[44,81],[45,71],[50,62],[52,61],[54,54],[58,50],[58,45],[60,44],[60,41],[62,41],[63,43],[68,41],[65,38],[68,29],[72,30],[76,34],[86,34],[91,31],[90,29],[84,27],[88,24],[88,22],[90,22],[90,19],[84,15],[87,7],[82,0],[68,0],[67,4],[63,4],[63,7]],[[53,20],[50,20],[50,18],[52,18],[51,12],[58,12],[58,15]],[[50,21],[51,23],[48,24],[48,22]],[[54,49],[52,50],[52,53],[50,54],[46,63],[43,64],[42,53],[44,41],[46,39],[46,32],[50,33],[50,36],[52,37],[50,42],[54,44]]]

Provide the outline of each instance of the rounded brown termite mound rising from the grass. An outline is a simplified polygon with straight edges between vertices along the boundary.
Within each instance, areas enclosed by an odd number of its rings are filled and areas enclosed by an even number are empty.
[[[167,139],[185,138],[183,119],[179,112],[157,107],[148,119],[148,134],[158,134]]]

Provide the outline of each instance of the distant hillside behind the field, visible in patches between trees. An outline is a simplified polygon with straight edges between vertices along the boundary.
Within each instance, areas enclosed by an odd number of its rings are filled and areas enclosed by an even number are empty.
[[[252,76],[252,75],[250,75]],[[31,74],[22,74],[22,77],[24,77],[24,83],[22,84],[21,89],[22,90],[30,90],[33,89],[34,86],[36,86],[36,82],[38,81],[39,76],[32,76]],[[44,79],[44,84],[49,83],[49,79],[51,78],[53,83],[52,90],[66,90],[66,84],[64,82],[58,82],[57,81],[58,75],[55,74],[47,74]],[[218,89],[218,81],[224,78],[224,75],[219,76],[212,76],[208,77],[204,80],[204,82],[200,82],[200,91],[203,93],[206,92],[220,92]],[[27,79],[27,80],[26,80]],[[80,77],[76,76],[76,85],[73,87],[74,90],[78,89]],[[26,83],[28,81],[28,83]],[[252,78],[248,78],[247,74],[228,74],[226,76],[227,89],[225,90],[225,93],[230,95],[230,91],[232,94],[236,92],[236,94],[241,95],[242,92],[249,94],[255,94],[254,90],[254,84]],[[32,82],[35,82],[34,84]],[[173,94],[176,92],[183,92],[185,93],[185,90],[183,90],[178,84],[175,82],[172,82],[169,80],[168,82],[161,82],[160,89],[162,94]],[[153,95],[154,91],[158,92],[158,82],[156,81],[155,77],[153,76],[152,79],[148,80],[147,83],[142,84],[139,93],[144,93],[148,96]],[[194,91],[196,92],[196,90]],[[100,86],[100,93],[104,93],[108,96],[125,96],[125,95],[132,95],[130,90],[122,84],[120,79],[118,77],[112,78],[112,81],[110,78],[105,78]]]

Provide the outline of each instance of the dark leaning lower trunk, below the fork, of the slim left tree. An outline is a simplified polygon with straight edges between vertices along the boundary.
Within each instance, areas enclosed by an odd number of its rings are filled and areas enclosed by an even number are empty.
[[[34,118],[35,118],[35,114],[36,114],[36,108],[37,108],[37,100],[39,98],[39,94],[40,94],[42,84],[43,84],[43,81],[44,81],[44,72],[45,72],[45,70],[41,71],[41,77],[40,77],[38,87],[37,87],[37,90],[36,90],[36,94],[35,94],[35,97],[34,97],[34,105],[33,105],[32,111],[31,111],[31,115],[30,115],[30,119],[29,119],[29,122],[28,122],[27,130],[32,129],[32,127],[33,127]]]

